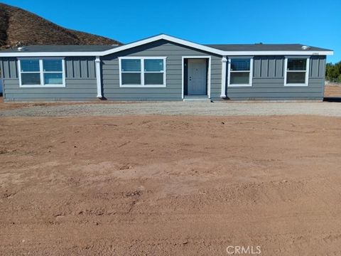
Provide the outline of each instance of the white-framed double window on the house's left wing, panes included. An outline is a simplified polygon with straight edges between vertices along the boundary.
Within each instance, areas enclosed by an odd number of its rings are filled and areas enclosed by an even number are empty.
[[[63,58],[18,59],[20,87],[65,87]]]

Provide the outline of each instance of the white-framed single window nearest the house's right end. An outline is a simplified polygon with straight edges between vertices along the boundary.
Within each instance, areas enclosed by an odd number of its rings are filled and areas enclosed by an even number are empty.
[[[288,57],[284,63],[285,86],[308,86],[310,58]]]

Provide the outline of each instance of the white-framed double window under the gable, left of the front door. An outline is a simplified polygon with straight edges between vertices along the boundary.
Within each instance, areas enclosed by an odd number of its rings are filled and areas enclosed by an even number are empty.
[[[120,87],[166,87],[166,57],[120,57]]]

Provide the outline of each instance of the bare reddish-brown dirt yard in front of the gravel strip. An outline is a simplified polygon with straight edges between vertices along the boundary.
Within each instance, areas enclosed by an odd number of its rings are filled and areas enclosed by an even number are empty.
[[[2,117],[0,254],[340,255],[340,163],[340,117]]]

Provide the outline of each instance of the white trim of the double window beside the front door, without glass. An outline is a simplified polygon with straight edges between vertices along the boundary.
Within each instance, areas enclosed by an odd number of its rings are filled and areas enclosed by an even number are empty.
[[[130,88],[164,88],[166,87],[166,58],[167,57],[119,57],[119,87],[130,87]],[[141,85],[122,85],[122,71],[121,71],[121,60],[141,60]],[[163,60],[163,71],[161,72],[149,72],[144,71],[144,60]],[[124,72],[124,73],[138,73],[138,72]],[[163,84],[162,85],[144,85],[144,73],[163,73]]]

